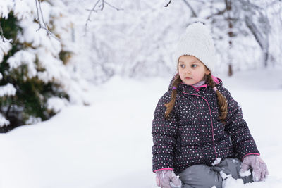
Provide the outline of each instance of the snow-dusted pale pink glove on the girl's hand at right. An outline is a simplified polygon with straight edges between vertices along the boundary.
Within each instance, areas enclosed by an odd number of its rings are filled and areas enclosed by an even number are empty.
[[[252,168],[252,179],[255,182],[262,181],[269,175],[269,171],[267,170],[266,163],[262,161],[260,156],[250,155],[245,156],[243,162],[241,164],[241,173],[245,173],[245,171]]]

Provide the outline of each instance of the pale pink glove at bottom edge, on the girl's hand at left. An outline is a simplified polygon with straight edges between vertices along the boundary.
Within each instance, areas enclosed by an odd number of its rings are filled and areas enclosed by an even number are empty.
[[[156,176],[157,186],[161,188],[180,188],[181,181],[173,170],[159,170]]]

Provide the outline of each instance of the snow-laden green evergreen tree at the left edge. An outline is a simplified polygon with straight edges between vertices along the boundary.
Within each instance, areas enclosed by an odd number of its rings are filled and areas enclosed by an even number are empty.
[[[68,15],[60,1],[1,1],[1,132],[89,102],[86,82],[69,63],[76,47]]]

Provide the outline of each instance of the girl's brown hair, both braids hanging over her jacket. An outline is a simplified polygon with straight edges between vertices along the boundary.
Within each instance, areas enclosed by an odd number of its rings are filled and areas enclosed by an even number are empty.
[[[205,76],[206,76],[206,80],[207,80],[209,86],[214,88],[215,84],[214,84],[214,80],[212,79],[212,73],[209,73],[208,75],[205,75]],[[179,76],[179,74],[177,74],[174,77],[172,87],[178,88],[180,82],[181,82],[180,76]],[[164,106],[166,106],[166,113],[164,114],[166,119],[168,119],[169,114],[171,113],[173,106],[176,103],[176,94],[177,94],[176,89],[173,89],[172,92],[171,92],[171,101],[167,104],[164,104]],[[223,94],[221,94],[221,92],[219,92],[219,90],[216,90],[216,94],[217,94],[218,106],[219,106],[219,119],[221,119],[224,123],[224,120],[225,120],[226,115],[227,115],[228,104],[226,102],[225,97],[223,96]]]

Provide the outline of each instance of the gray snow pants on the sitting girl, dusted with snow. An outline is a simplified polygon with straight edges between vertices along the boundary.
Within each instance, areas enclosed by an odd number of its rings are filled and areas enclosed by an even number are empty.
[[[244,184],[253,182],[252,175],[240,177],[240,163],[238,158],[225,158],[215,166],[192,165],[178,174],[182,188],[222,188],[221,171],[234,179],[243,179]]]

